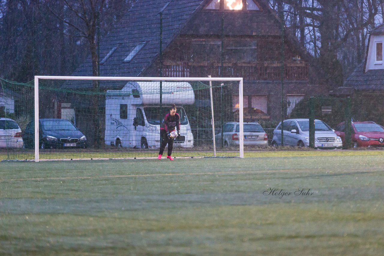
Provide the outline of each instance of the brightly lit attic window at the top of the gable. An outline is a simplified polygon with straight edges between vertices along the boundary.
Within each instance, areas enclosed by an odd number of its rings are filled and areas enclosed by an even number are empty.
[[[206,10],[260,10],[253,0],[212,0]]]

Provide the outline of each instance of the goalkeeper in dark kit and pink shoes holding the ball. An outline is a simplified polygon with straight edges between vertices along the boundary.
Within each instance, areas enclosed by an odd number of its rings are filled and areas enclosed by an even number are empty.
[[[164,117],[164,121],[161,123],[161,126],[160,126],[160,137],[162,138],[162,143],[160,145],[159,156],[157,157],[157,159],[161,159],[164,149],[168,144],[167,159],[173,161],[173,158],[170,155],[172,154],[173,141],[174,139],[176,139],[176,137],[172,137],[170,133],[174,131],[175,128],[177,129],[177,137],[179,137],[180,136],[180,116],[179,114],[176,113],[176,105],[173,104],[169,108],[169,113],[166,114],[166,116]]]

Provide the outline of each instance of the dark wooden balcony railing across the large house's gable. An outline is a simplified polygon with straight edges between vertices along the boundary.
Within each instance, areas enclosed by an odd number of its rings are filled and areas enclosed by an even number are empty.
[[[280,63],[224,63],[224,77],[242,77],[255,80],[280,79]],[[162,74],[165,77],[219,77],[220,63],[208,62],[163,62]],[[307,63],[285,63],[284,78],[288,80],[308,79]]]

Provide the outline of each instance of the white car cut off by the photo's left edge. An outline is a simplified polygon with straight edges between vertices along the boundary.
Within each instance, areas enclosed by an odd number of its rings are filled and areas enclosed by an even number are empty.
[[[9,118],[0,118],[0,147],[23,147],[22,130]]]

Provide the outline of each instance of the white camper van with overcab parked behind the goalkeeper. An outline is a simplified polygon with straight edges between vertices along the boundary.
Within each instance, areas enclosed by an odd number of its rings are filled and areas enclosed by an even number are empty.
[[[182,105],[192,105],[195,94],[186,82],[128,82],[121,90],[108,90],[105,101],[105,144],[116,147],[156,149],[160,147],[160,124],[176,104],[180,137],[174,146],[193,147],[193,135]]]

